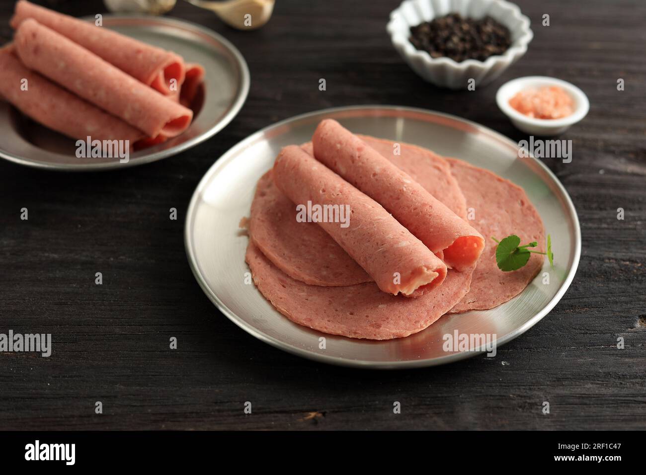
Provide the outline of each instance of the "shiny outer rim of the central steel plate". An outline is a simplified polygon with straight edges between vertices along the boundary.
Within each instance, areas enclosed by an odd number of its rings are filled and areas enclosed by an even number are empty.
[[[190,225],[191,225],[191,222],[193,222],[194,211],[196,209],[197,202],[200,196],[202,195],[203,188],[205,187],[206,182],[209,179],[211,179],[211,177],[214,174],[218,172],[218,169],[224,168],[231,160],[233,160],[234,156],[236,156],[236,154],[238,153],[238,151],[240,151],[240,149],[245,149],[250,143],[255,142],[255,140],[257,140],[258,138],[261,138],[267,132],[270,132],[274,129],[278,129],[279,127],[287,125],[291,122],[311,118],[313,116],[324,116],[325,114],[334,114],[337,112],[361,111],[363,109],[365,109],[366,111],[387,110],[387,111],[393,111],[393,112],[398,112],[398,111],[415,112],[415,113],[424,114],[426,116],[429,116],[429,115],[440,116],[450,120],[459,121],[461,123],[469,125],[470,127],[474,127],[474,129],[477,130],[478,132],[488,134],[492,138],[500,140],[501,142],[511,143],[514,145],[514,147],[517,147],[516,142],[504,136],[500,132],[496,132],[493,129],[490,129],[489,127],[485,127],[484,125],[480,125],[479,123],[476,123],[474,121],[470,121],[467,119],[460,118],[458,116],[454,116],[453,114],[446,114],[444,112],[432,111],[430,109],[421,109],[419,107],[406,107],[406,106],[399,106],[399,105],[351,105],[351,106],[330,107],[327,109],[319,109],[318,111],[306,112],[304,114],[298,114],[297,116],[292,116],[290,118],[280,120],[278,122],[272,123],[271,125],[267,125],[267,127],[264,127],[259,131],[254,132],[253,134],[247,136],[243,140],[240,140],[240,142],[233,145],[233,147],[229,148],[224,154],[222,154],[222,156],[217,158],[214,164],[211,165],[211,167],[209,167],[206,173],[202,176],[202,179],[197,185],[195,191],[193,192],[193,196],[191,196],[191,201],[189,202],[189,207],[187,208],[186,218],[184,221],[184,248],[187,255],[187,259],[189,261],[189,267],[191,268],[191,271],[193,272],[195,279],[198,281],[200,288],[202,288],[202,291],[207,295],[209,300],[211,300],[211,302],[213,302],[216,308],[218,308],[218,310],[220,310],[230,321],[234,322],[234,324],[242,328],[242,330],[245,330],[245,332],[249,333],[250,335],[253,335],[260,341],[264,341],[265,343],[271,344],[271,346],[274,346],[275,348],[279,348],[280,350],[284,350],[287,353],[304,357],[306,359],[318,361],[319,363],[328,363],[328,364],[333,364],[335,366],[345,366],[350,368],[394,370],[394,369],[405,369],[405,368],[426,368],[429,366],[439,366],[441,364],[454,363],[456,361],[461,361],[464,359],[474,357],[476,355],[484,354],[486,350],[483,349],[481,351],[453,353],[450,355],[445,355],[445,356],[442,356],[439,358],[433,358],[433,359],[406,360],[406,361],[366,361],[366,360],[359,360],[359,359],[345,359],[342,357],[329,356],[325,354],[311,352],[309,350],[304,350],[302,348],[298,348],[297,346],[292,346],[290,344],[284,343],[276,339],[275,337],[266,335],[262,331],[251,326],[251,324],[248,324],[247,322],[240,319],[240,317],[238,317],[236,313],[229,310],[229,308],[227,308],[224,302],[222,302],[220,298],[213,291],[211,291],[209,286],[207,286],[205,279],[203,279],[201,273],[198,271],[198,263],[196,261],[194,248],[191,243]],[[572,284],[572,280],[574,280],[574,275],[576,275],[576,271],[579,268],[579,260],[581,258],[581,225],[579,224],[579,216],[576,212],[576,207],[574,207],[574,203],[572,202],[572,198],[570,198],[570,195],[568,194],[567,189],[565,189],[561,181],[557,178],[557,176],[554,173],[552,173],[552,171],[547,167],[547,165],[541,162],[541,160],[534,157],[533,154],[530,154],[528,159],[532,160],[535,164],[539,165],[539,167],[541,167],[543,171],[545,171],[548,174],[548,176],[550,176],[554,184],[556,184],[557,188],[562,193],[563,198],[565,198],[564,202],[567,207],[567,211],[572,216],[573,224],[574,224],[574,259],[572,260],[572,266],[570,267],[567,275],[565,276],[565,279],[563,280],[561,287],[554,295],[554,297],[552,297],[552,299],[549,302],[547,302],[547,304],[536,315],[534,315],[534,317],[532,317],[524,324],[516,328],[513,332],[508,333],[508,335],[505,335],[504,337],[501,337],[501,338],[497,338],[495,341],[496,347],[503,346],[503,344],[506,344],[512,341],[513,339],[516,339],[517,337],[525,333],[527,330],[532,328],[532,326],[536,325],[539,321],[541,321],[545,317],[545,315],[547,315],[548,313],[550,313],[550,311],[552,311],[552,309],[556,306],[556,304],[559,301],[561,301],[561,299],[563,298],[563,295],[565,295],[568,288],[570,288],[570,284]]]

